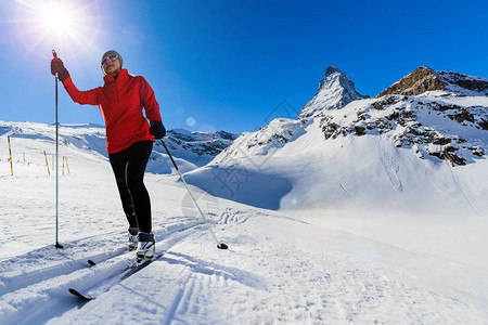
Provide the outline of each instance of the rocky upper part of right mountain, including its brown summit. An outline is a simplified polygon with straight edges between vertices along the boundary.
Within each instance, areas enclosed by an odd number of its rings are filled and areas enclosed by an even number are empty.
[[[488,79],[420,67],[375,99],[323,113],[320,125],[325,139],[385,135],[420,158],[465,165],[487,153],[486,93]]]

